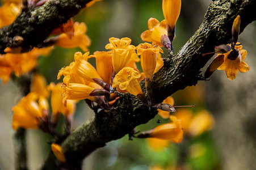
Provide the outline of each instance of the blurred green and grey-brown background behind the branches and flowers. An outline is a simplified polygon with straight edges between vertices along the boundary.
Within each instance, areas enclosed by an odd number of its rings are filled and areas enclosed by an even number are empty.
[[[210,0],[182,1],[181,15],[176,27],[174,53],[178,52],[203,22]],[[129,37],[132,45],[143,41],[140,35],[148,29],[148,19],[163,20],[162,1],[147,0],[103,0],[85,8],[74,21],[85,22],[87,35],[91,39],[90,54],[106,50],[110,37]],[[169,142],[163,148],[150,146],[145,139],[128,141],[128,136],[112,141],[88,156],[85,170],[98,169],[256,169],[256,80],[255,80],[255,22],[241,33],[239,41],[247,50],[245,62],[250,66],[247,73],[238,73],[230,81],[224,71],[216,71],[210,81],[199,82],[197,86],[187,87],[176,92],[174,105],[194,105],[195,108],[177,109],[177,113],[188,112],[192,117],[207,112],[214,117],[208,128],[195,135],[186,134],[181,144]],[[231,31],[231,28],[230,28]],[[216,44],[219,45],[219,44]],[[74,53],[81,49],[62,49],[55,47],[49,57],[39,58],[39,71],[47,82],[57,83],[58,70],[69,65]],[[167,56],[164,50],[162,57]],[[93,65],[94,58],[89,60]],[[205,68],[203,69],[203,71]],[[0,80],[0,169],[14,169],[14,149],[11,128],[12,111],[20,96],[12,80],[3,84]],[[72,129],[93,117],[93,112],[81,101],[77,105]],[[156,116],[148,124],[136,128],[149,130],[157,126],[157,120],[169,122]],[[204,124],[206,121],[199,121]],[[63,130],[62,126],[59,127]],[[28,167],[39,169],[47,158],[51,136],[39,130],[28,130]],[[158,145],[158,143],[155,145]],[[160,145],[160,144],[159,144]]]

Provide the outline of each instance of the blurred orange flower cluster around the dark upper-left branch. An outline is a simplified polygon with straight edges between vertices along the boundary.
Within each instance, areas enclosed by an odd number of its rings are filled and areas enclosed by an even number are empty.
[[[30,2],[36,3],[37,1]],[[45,3],[46,1],[39,2]],[[31,6],[32,5],[33,4],[31,4]],[[0,7],[0,28],[14,22],[16,16],[21,12],[21,10],[21,1],[7,1],[2,7]],[[12,71],[16,76],[20,76],[35,69],[37,66],[37,58],[39,56],[48,56],[53,49],[53,45],[61,46],[62,48],[79,47],[86,52],[88,50],[87,46],[91,43],[89,37],[86,35],[86,31],[87,27],[85,23],[73,23],[73,20],[70,19],[66,24],[60,25],[59,28],[56,28],[52,32],[52,35],[57,36],[45,40],[45,48],[39,49],[35,47],[31,49],[24,49],[21,46],[17,48],[7,47],[5,49],[6,54],[0,54],[0,69],[2,70],[0,78],[4,83],[6,83],[9,80]],[[16,44],[23,44],[24,39],[21,36],[15,36],[14,41]]]

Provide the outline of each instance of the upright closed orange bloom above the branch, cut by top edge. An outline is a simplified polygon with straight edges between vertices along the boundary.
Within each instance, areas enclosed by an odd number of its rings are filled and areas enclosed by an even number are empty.
[[[162,2],[163,16],[173,30],[181,12],[181,0],[163,0]]]

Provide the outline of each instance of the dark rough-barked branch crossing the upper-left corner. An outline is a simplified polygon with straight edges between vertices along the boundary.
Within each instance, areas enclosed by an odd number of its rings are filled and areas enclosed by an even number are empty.
[[[54,28],[66,23],[90,1],[92,0],[51,0],[43,6],[23,10],[14,23],[0,29],[0,54],[4,54],[8,46],[21,46],[23,49],[43,47],[44,40]],[[15,41],[15,36],[22,37],[23,42]]]

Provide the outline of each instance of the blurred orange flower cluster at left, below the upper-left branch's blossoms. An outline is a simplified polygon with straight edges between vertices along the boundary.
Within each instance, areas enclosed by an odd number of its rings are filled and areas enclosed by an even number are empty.
[[[58,117],[62,113],[68,125],[72,122],[72,115],[75,110],[76,101],[68,100],[64,106],[61,97],[62,83],[51,83],[48,87],[43,76],[33,75],[31,92],[24,96],[15,105],[12,117],[12,128],[41,129],[52,133],[56,126]],[[51,91],[51,108],[49,110],[48,96]]]

